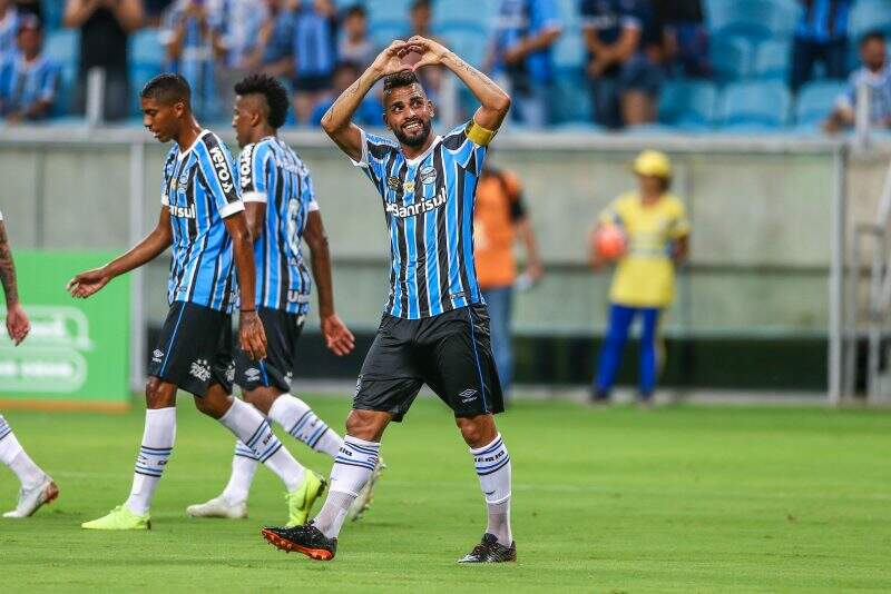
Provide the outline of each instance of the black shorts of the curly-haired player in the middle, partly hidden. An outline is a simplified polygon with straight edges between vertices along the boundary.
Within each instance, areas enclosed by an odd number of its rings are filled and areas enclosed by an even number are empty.
[[[258,307],[257,315],[266,333],[266,358],[253,360],[236,347],[235,383],[243,390],[274,386],[282,392],[290,392],[297,339],[306,316],[265,307]]]

